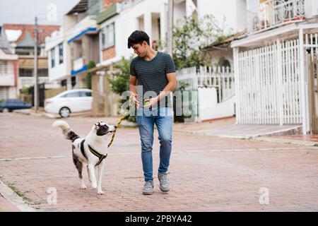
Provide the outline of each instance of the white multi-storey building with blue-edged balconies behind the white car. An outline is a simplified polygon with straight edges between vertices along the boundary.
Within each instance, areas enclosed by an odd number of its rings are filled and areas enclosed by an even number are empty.
[[[49,80],[68,90],[86,88],[88,63],[99,62],[96,14],[102,0],[81,0],[64,15],[58,32],[45,40],[49,58]]]

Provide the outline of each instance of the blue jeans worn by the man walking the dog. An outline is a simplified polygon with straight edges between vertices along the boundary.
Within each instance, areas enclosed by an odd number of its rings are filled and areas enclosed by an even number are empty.
[[[139,108],[136,121],[141,138],[141,160],[145,181],[153,180],[153,127],[157,126],[160,141],[160,165],[158,172],[165,173],[169,167],[172,149],[172,109],[158,107],[153,109]]]

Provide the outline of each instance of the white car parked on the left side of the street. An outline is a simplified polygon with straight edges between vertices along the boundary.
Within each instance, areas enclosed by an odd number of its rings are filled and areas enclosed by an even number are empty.
[[[92,90],[67,90],[45,100],[45,112],[69,117],[71,112],[86,112],[92,109]]]

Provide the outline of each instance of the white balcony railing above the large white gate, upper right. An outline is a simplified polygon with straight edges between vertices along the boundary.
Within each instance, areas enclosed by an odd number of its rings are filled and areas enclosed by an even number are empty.
[[[305,20],[305,0],[269,0],[247,11],[250,34],[302,20]]]

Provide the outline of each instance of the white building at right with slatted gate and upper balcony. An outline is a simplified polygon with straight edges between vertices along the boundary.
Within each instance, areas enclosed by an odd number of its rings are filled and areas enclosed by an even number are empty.
[[[302,124],[306,134],[317,124],[317,74],[310,66],[318,48],[318,1],[246,5],[247,37],[232,42],[237,124]]]

